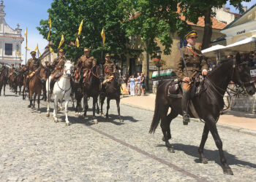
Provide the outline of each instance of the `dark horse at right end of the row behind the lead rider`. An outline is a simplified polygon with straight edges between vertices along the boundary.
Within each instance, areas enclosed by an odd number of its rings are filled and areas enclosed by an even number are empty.
[[[116,107],[118,111],[118,119],[120,122],[124,122],[123,119],[121,119],[120,116],[120,95],[121,95],[121,74],[119,71],[116,71],[113,74],[113,79],[111,80],[110,83],[107,83],[105,87],[102,88],[102,92],[99,94],[99,100],[100,100],[100,112],[101,115],[104,116],[102,107],[104,104],[104,100],[107,97],[107,113],[106,113],[106,118],[108,119],[108,110],[110,108],[110,100],[115,99],[116,100]]]

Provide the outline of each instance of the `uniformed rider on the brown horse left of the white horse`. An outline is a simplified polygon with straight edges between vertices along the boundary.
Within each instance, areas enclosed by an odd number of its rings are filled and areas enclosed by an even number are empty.
[[[42,63],[39,59],[36,58],[37,52],[31,51],[31,57],[26,63],[26,68],[29,68],[29,75],[26,76],[26,85],[29,87],[29,81],[32,76],[36,73],[39,68],[42,68]]]

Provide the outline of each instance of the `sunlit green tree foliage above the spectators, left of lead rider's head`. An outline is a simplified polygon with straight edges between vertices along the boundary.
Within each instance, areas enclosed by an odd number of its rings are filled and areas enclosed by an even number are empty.
[[[173,33],[184,34],[189,29],[179,18],[176,0],[124,0],[121,8],[127,35],[139,36],[148,54],[157,50],[156,38],[165,47],[165,55],[170,54]]]

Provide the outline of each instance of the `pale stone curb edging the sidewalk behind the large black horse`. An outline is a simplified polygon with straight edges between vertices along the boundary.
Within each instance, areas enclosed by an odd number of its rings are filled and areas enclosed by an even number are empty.
[[[150,108],[142,108],[140,106],[135,106],[135,105],[132,105],[132,104],[129,104],[129,103],[121,103],[121,104],[123,104],[125,106],[129,106],[129,107],[133,107],[133,108],[140,108],[140,109],[143,109],[143,110],[146,110],[146,111],[154,112],[154,110],[151,110]],[[178,115],[178,118],[182,119],[182,116]],[[190,118],[190,121],[201,122],[200,119],[195,119],[195,118]],[[219,123],[217,123],[217,126],[220,127],[220,128],[233,130],[233,131],[236,131],[236,132],[241,132],[241,133],[244,133],[244,134],[247,134],[247,135],[256,136],[256,131],[255,130],[248,130],[248,129],[245,129],[243,127],[235,127],[235,126],[231,126],[231,125],[227,125],[227,124],[219,124]]]

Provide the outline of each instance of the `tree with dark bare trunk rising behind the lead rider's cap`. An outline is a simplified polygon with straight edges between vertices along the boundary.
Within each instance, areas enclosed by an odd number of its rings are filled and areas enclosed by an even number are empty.
[[[251,0],[245,1],[249,2]],[[181,7],[181,13],[184,14],[186,20],[196,24],[198,17],[205,17],[202,50],[208,48],[211,43],[212,34],[211,17],[214,16],[212,8],[221,8],[223,5],[227,4],[227,0],[180,0],[179,2],[178,6]],[[241,2],[242,0],[230,0],[230,4],[233,5],[233,7],[239,9],[240,12],[244,12]]]

